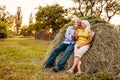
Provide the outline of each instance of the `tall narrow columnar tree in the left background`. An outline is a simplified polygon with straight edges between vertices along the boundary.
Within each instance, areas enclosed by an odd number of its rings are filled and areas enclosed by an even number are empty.
[[[15,24],[16,24],[17,34],[19,34],[19,29],[21,27],[21,23],[22,23],[21,7],[17,7],[17,13],[15,16]]]

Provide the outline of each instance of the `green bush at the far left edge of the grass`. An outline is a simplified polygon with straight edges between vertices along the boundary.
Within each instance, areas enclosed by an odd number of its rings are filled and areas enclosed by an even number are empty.
[[[7,24],[0,21],[0,38],[7,38]]]

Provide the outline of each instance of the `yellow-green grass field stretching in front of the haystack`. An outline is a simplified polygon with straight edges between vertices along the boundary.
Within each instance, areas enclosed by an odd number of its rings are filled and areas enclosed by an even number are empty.
[[[50,43],[31,37],[0,40],[0,80],[120,80],[106,71],[76,77],[66,70],[55,73],[52,68],[44,69]]]

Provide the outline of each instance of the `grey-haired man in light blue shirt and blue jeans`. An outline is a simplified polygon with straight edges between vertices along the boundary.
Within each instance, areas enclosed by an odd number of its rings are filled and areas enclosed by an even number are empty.
[[[51,67],[55,63],[55,60],[58,57],[58,55],[60,55],[61,52],[64,51],[62,58],[56,64],[56,67],[53,68],[53,71],[59,72],[60,70],[63,69],[65,62],[67,61],[67,59],[69,58],[69,56],[74,50],[75,40],[72,36],[73,36],[74,29],[77,28],[78,26],[80,26],[79,19],[75,20],[75,23],[73,26],[69,26],[67,28],[65,33],[65,40],[60,45],[58,45],[58,47],[54,49],[54,51],[49,56],[48,60],[45,62],[44,68]]]

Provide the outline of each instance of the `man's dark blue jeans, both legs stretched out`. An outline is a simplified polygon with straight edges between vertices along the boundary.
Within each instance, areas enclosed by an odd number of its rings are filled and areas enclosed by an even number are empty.
[[[48,58],[48,60],[45,63],[45,68],[51,67],[55,63],[55,60],[58,57],[58,55],[60,55],[64,51],[64,54],[63,54],[62,58],[59,60],[59,62],[57,63],[57,65],[55,67],[58,71],[60,71],[63,68],[67,59],[72,54],[73,50],[74,50],[74,44],[61,43],[51,53],[50,57]]]

